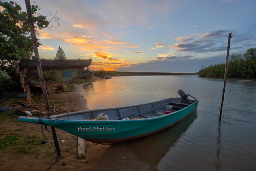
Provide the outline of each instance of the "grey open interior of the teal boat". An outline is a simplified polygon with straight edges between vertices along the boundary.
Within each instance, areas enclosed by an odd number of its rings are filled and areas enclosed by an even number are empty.
[[[175,112],[195,102],[197,102],[197,100],[186,99],[186,101],[184,101],[182,98],[169,98],[134,106],[63,113],[51,116],[51,118],[63,120],[97,120],[95,118],[99,114],[104,113],[108,116],[108,120],[146,119]]]

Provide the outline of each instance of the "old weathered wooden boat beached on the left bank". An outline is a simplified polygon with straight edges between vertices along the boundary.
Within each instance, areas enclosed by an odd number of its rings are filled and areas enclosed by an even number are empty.
[[[74,83],[80,76],[83,68],[91,65],[92,60],[44,60],[41,59],[42,74],[46,87],[61,86]],[[38,78],[36,60],[22,59],[15,63],[15,71],[9,73],[12,78],[19,82],[20,75],[33,87],[41,87]],[[23,83],[22,83],[23,84]]]

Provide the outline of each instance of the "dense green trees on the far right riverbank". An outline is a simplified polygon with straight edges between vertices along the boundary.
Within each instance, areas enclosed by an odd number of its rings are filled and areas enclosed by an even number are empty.
[[[200,77],[223,78],[225,64],[202,67]],[[228,78],[256,78],[256,48],[248,49],[244,54],[232,53],[228,59]]]

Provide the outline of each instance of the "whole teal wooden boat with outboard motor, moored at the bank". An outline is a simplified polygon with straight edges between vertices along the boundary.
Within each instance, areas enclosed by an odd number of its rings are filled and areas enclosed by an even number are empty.
[[[169,98],[141,105],[63,113],[44,118],[19,117],[18,121],[53,126],[85,140],[112,144],[153,134],[172,126],[197,110],[198,100],[178,91]],[[100,113],[109,120],[94,120]],[[165,114],[167,113],[167,114]]]

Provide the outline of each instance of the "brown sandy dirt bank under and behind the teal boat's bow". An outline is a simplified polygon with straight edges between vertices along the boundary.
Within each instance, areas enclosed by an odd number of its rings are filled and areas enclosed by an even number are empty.
[[[58,110],[62,111],[58,112],[88,109],[86,100],[81,100],[84,99],[82,93],[84,84],[75,84],[75,86],[75,91],[61,93],[48,88],[50,104],[53,101],[61,102]],[[44,139],[40,125],[17,122],[16,118],[1,114],[0,132],[0,140],[9,135],[25,137],[24,141],[28,135]],[[157,170],[157,167],[147,159],[149,156],[141,156],[139,150],[142,149],[135,148],[139,140],[113,145],[100,145],[86,141],[86,157],[77,158],[77,137],[59,129],[56,133],[61,149],[61,157],[57,163],[53,142],[52,150],[47,143],[31,145],[30,150],[38,149],[31,154],[16,154],[10,145],[7,150],[0,150],[0,170]],[[44,134],[49,138],[48,142],[51,146],[51,132],[45,130]]]

